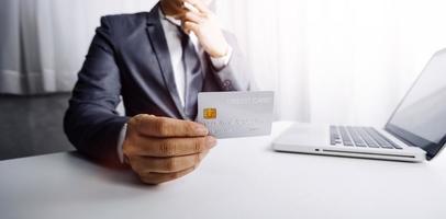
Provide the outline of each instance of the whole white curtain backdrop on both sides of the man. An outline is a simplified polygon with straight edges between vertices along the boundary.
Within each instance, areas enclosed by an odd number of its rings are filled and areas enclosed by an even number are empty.
[[[156,0],[1,0],[0,93],[69,91],[99,18]],[[444,0],[218,0],[276,118],[382,125],[446,47]]]

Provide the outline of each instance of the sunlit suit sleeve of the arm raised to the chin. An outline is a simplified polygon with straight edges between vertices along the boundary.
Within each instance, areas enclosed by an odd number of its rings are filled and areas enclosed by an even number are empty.
[[[233,51],[230,62],[222,69],[213,69],[222,91],[255,91],[256,82],[234,35],[225,33]]]

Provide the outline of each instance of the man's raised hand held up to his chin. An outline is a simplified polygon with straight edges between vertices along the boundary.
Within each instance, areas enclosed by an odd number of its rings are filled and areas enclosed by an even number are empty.
[[[227,54],[228,44],[224,38],[215,14],[208,9],[202,0],[185,0],[197,11],[188,10],[179,19],[186,33],[193,32],[204,50],[213,58]]]

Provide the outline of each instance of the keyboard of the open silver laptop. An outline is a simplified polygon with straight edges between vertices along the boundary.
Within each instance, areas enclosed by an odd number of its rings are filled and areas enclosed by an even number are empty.
[[[330,139],[332,146],[403,149],[371,127],[330,126]]]

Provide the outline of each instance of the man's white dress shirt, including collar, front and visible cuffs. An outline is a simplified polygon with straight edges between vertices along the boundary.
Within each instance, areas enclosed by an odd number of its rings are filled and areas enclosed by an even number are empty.
[[[182,46],[181,46],[181,35],[180,35],[180,26],[181,26],[181,21],[177,20],[172,16],[165,15],[161,10],[159,10],[159,19],[163,25],[163,31],[166,36],[166,42],[167,42],[167,47],[169,49],[170,54],[170,61],[174,70],[174,79],[175,79],[175,84],[177,85],[177,91],[178,95],[181,102],[181,105],[185,106],[185,100],[186,100],[186,71],[185,71],[185,66],[182,62]],[[199,44],[197,36],[193,33],[189,34],[190,39],[192,41],[192,44],[196,47],[196,50],[201,59],[201,62],[205,61],[205,51],[203,47]],[[230,62],[231,56],[232,56],[232,47],[230,46],[227,54],[221,58],[213,58],[211,57],[211,62],[212,66],[220,70],[223,69],[227,64]],[[125,124],[120,132],[119,139],[118,139],[118,154],[120,158],[120,161],[123,163],[124,162],[124,155],[122,151],[122,147],[125,140],[125,135],[127,130],[127,124]]]

